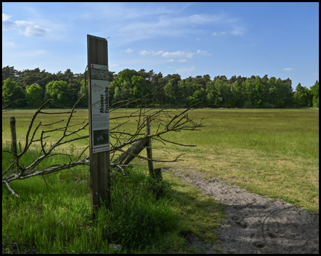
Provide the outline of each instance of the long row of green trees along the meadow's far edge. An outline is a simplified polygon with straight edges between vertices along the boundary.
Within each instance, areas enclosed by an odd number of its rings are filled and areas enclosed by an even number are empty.
[[[18,71],[6,66],[2,68],[2,105],[25,99],[13,107],[38,107],[53,99],[55,105],[71,107],[87,92],[86,75],[73,74],[70,69],[51,74],[39,68]],[[198,75],[182,80],[178,74],[163,77],[161,72],[144,69],[125,69],[118,74],[109,71],[109,81],[111,105],[141,98],[149,92],[150,100],[175,107],[189,107],[204,97],[203,106],[209,107],[319,107],[318,81],[310,89],[299,83],[293,92],[290,78],[234,75],[228,79],[221,75],[211,80],[210,75]],[[88,100],[83,100],[80,107],[88,107]]]

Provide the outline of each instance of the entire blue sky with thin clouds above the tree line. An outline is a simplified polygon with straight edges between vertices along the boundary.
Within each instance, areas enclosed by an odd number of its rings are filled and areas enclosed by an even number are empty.
[[[2,66],[83,73],[87,34],[116,73],[319,80],[319,3],[2,3]]]

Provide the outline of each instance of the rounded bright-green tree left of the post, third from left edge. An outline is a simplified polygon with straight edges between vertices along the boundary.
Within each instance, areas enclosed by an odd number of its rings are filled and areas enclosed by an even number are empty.
[[[69,90],[67,82],[51,81],[46,85],[45,100],[53,99],[55,105],[63,107],[71,107],[73,102],[71,101],[71,92]]]

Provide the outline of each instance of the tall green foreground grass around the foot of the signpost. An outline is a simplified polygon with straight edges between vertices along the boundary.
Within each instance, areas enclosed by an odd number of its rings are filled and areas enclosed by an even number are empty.
[[[91,219],[86,169],[14,181],[11,186],[21,199],[3,185],[5,252],[16,252],[16,246],[20,252],[36,247],[39,253],[108,253],[113,252],[112,244],[122,245],[123,252],[151,247],[177,229],[178,215],[168,199],[156,200],[146,174],[131,170],[138,184],[112,173],[111,208],[101,208],[96,221]]]

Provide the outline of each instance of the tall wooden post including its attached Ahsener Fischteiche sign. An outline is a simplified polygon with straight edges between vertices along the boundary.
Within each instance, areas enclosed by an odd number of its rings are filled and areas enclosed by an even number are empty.
[[[109,208],[111,202],[108,42],[105,38],[87,35],[87,46],[91,208],[95,219],[101,206],[100,200],[106,208]]]

